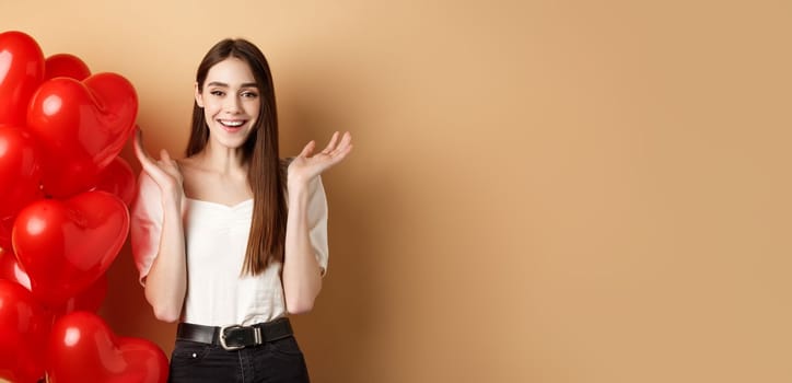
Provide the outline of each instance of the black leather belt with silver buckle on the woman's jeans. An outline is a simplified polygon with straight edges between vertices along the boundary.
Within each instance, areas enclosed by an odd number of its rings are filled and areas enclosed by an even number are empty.
[[[259,346],[268,341],[283,339],[294,334],[288,317],[280,317],[271,322],[259,323],[253,326],[202,326],[191,323],[179,323],[176,329],[177,340],[198,341],[208,345],[219,345],[232,351],[245,347]]]

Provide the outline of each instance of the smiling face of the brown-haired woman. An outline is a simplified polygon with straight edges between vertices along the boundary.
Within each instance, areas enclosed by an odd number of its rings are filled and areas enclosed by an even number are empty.
[[[260,94],[247,62],[229,57],[209,69],[203,89],[195,98],[203,108],[209,139],[240,148],[253,131],[261,107]]]

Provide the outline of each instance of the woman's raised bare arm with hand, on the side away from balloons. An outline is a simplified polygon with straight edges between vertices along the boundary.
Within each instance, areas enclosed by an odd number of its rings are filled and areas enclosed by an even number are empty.
[[[322,290],[322,268],[311,245],[308,227],[310,185],[330,166],[339,163],[352,150],[352,137],[343,135],[340,143],[338,132],[333,135],[325,150],[312,155],[314,141],[289,165],[289,216],[286,227],[283,259],[283,294],[287,311],[292,314],[308,312]]]

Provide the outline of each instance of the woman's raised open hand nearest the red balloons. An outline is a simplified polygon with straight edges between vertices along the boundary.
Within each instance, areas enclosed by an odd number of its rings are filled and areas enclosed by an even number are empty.
[[[136,127],[135,130],[135,156],[140,161],[143,171],[160,186],[163,197],[172,197],[175,202],[180,204],[184,200],[184,176],[178,164],[164,149],[160,151],[159,161],[152,159],[143,148],[142,130],[140,127]]]

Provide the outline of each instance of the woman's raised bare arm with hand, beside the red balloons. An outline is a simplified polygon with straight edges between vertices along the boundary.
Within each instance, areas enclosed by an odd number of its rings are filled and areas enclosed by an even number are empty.
[[[154,316],[164,322],[176,322],[187,292],[187,265],[185,256],[182,204],[183,177],[178,165],[166,151],[154,161],[142,147],[142,134],[137,130],[135,154],[143,171],[160,187],[162,196],[162,232],[160,246],[151,269],[145,277],[145,300],[154,310]]]

